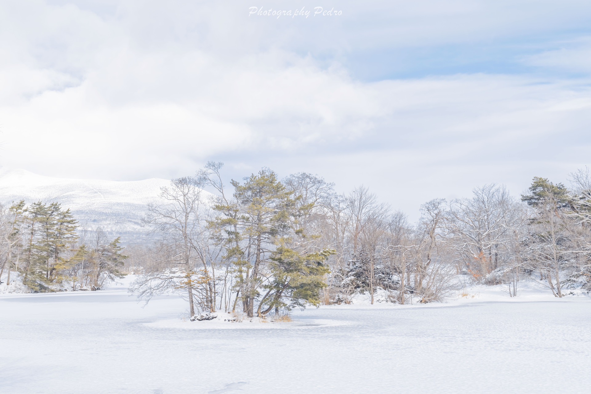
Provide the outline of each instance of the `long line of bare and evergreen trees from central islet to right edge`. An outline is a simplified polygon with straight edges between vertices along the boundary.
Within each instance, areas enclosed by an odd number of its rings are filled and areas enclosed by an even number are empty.
[[[140,252],[130,291],[148,301],[171,291],[191,316],[242,311],[264,316],[306,304],[439,301],[466,284],[535,278],[556,297],[591,285],[591,182],[534,178],[527,194],[502,185],[421,206],[410,223],[366,187],[336,193],[317,175],[280,180],[263,168],[223,183],[223,164],[162,188],[145,218],[158,241]],[[213,193],[204,190],[212,190]]]

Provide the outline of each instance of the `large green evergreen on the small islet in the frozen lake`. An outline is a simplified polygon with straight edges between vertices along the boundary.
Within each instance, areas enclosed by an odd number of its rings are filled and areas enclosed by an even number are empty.
[[[210,171],[218,178],[219,167]],[[307,235],[304,226],[315,201],[296,196],[294,188],[286,188],[267,168],[244,178],[244,183],[232,181],[232,199],[225,197],[219,180],[211,180],[206,171],[199,175],[220,191],[213,209],[221,215],[210,226],[225,246],[223,259],[235,265],[232,310],[238,299],[249,317],[305,302],[317,305],[329,273],[324,261],[333,252],[308,253],[302,247],[303,240],[317,238]]]

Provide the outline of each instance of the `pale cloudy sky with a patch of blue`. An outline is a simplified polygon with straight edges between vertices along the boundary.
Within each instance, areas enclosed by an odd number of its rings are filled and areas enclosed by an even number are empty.
[[[0,165],[42,175],[215,160],[414,217],[591,164],[588,0],[5,0],[0,53]]]

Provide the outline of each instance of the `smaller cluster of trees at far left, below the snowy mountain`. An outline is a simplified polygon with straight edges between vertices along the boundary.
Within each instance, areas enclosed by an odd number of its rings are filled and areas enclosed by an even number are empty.
[[[121,278],[121,240],[81,230],[59,203],[0,207],[0,278],[34,292],[98,290]]]

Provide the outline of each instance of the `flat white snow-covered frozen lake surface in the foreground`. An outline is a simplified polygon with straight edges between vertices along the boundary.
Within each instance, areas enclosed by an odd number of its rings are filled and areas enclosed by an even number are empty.
[[[0,392],[589,392],[588,297],[467,293],[309,308],[280,324],[183,322],[183,301],[142,308],[125,285],[4,294]]]

